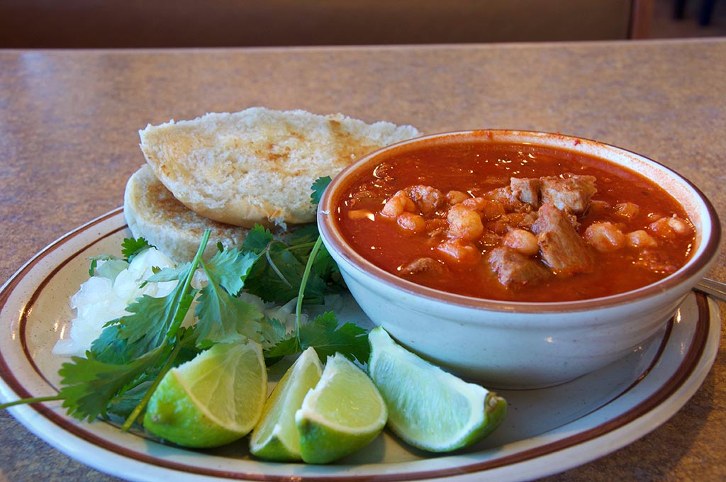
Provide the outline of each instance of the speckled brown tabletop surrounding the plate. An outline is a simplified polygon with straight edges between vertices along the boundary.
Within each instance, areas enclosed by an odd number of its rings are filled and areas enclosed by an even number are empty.
[[[121,205],[137,131],[253,105],[627,147],[695,183],[726,219],[726,38],[580,44],[0,51],[0,281]],[[726,246],[710,276],[726,281]],[[722,311],[725,306],[720,305]],[[680,412],[549,481],[726,480],[726,341]],[[0,481],[107,481],[0,413]]]

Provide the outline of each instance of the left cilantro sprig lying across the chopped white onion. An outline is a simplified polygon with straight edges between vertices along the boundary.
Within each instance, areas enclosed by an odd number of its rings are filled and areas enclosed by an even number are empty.
[[[142,413],[160,379],[177,363],[182,347],[202,349],[243,338],[261,340],[262,314],[252,304],[236,298],[250,269],[250,257],[229,250],[203,261],[209,235],[205,232],[190,263],[163,269],[147,280],[178,280],[171,293],[161,298],[138,298],[127,309],[131,314],[106,324],[86,358],[75,356],[62,365],[60,398],[68,414],[81,420],[107,417],[112,401],[118,405],[124,393],[152,381],[126,418],[123,428],[127,430]],[[197,268],[208,278],[208,284],[200,290],[192,287]],[[198,322],[193,328],[181,330],[197,294]]]

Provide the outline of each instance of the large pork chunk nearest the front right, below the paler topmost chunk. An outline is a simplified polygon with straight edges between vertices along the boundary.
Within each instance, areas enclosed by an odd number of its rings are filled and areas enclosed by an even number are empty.
[[[584,240],[577,234],[570,216],[552,203],[539,208],[539,217],[532,225],[542,260],[558,274],[592,271],[592,258]]]

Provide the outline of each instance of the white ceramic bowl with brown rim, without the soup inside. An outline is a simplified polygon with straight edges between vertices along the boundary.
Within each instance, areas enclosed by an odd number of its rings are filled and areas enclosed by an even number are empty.
[[[688,264],[652,285],[604,298],[513,303],[444,293],[396,277],[356,253],[335,216],[343,190],[366,166],[391,152],[439,142],[529,143],[603,158],[655,180],[696,226]],[[627,150],[560,134],[461,131],[400,142],[372,152],[333,179],[319,203],[322,240],[348,288],[375,324],[412,351],[492,388],[555,385],[604,367],[653,336],[714,262],[719,220],[706,197],[674,171]]]

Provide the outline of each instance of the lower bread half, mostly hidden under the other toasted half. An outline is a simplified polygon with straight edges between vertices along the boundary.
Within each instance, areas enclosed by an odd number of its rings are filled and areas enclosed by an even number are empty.
[[[194,258],[205,229],[211,229],[205,259],[216,253],[218,242],[224,248],[242,245],[249,231],[212,221],[189,210],[154,176],[147,164],[126,183],[123,215],[134,237],[144,237],[176,262]]]

